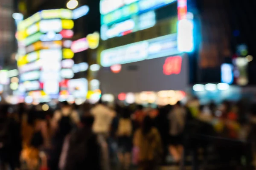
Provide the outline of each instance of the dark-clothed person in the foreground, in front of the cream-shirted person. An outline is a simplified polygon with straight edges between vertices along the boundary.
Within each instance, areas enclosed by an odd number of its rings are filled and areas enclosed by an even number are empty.
[[[92,125],[93,116],[81,119],[81,126],[66,137],[63,145],[60,170],[102,170],[102,147]]]

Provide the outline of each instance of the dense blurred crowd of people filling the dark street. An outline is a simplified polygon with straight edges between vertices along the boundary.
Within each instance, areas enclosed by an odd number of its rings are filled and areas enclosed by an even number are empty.
[[[1,105],[0,169],[155,170],[189,161],[194,167],[255,166],[255,133],[256,105],[242,101],[147,107],[61,102],[48,111]]]

